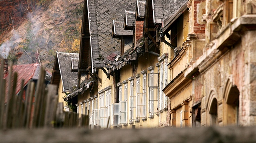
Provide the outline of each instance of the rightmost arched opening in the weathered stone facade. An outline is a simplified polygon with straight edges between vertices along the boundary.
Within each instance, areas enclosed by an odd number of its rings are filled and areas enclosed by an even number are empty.
[[[239,90],[237,86],[232,85],[228,79],[223,95],[223,124],[238,125],[239,123]]]

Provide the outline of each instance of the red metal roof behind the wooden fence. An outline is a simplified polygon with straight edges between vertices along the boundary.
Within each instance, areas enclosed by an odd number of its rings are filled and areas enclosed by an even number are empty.
[[[39,78],[40,68],[41,68],[41,66],[38,63],[25,64],[25,65],[13,65],[12,72],[13,73],[17,72],[17,74],[18,74],[15,95],[17,95],[21,90],[20,86],[21,86],[22,80],[24,80],[24,87],[25,87],[30,80],[37,80]],[[8,70],[11,70],[11,68],[8,67]],[[13,74],[12,74],[12,76],[13,76]],[[50,81],[51,76],[52,76],[52,74],[46,70],[45,80]],[[8,83],[10,80],[9,72],[4,76],[4,78],[7,83],[6,88],[5,88],[5,92],[7,95],[8,90],[9,90]],[[13,82],[13,80],[11,82]],[[5,96],[4,102],[7,102],[7,96]]]

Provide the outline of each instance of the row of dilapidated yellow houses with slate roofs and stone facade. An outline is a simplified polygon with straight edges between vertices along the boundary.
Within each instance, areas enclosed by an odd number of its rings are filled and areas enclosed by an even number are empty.
[[[246,0],[85,0],[51,84],[91,128],[254,125],[255,19]]]

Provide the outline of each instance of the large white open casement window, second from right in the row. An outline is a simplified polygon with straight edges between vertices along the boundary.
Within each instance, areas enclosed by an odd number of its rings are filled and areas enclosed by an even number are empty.
[[[153,116],[158,112],[158,73],[154,73],[154,66],[148,68],[148,87],[149,87],[149,113]]]

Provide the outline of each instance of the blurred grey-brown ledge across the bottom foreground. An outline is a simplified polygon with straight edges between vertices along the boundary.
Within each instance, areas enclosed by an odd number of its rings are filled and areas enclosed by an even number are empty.
[[[256,126],[87,130],[0,130],[1,143],[255,143]]]

